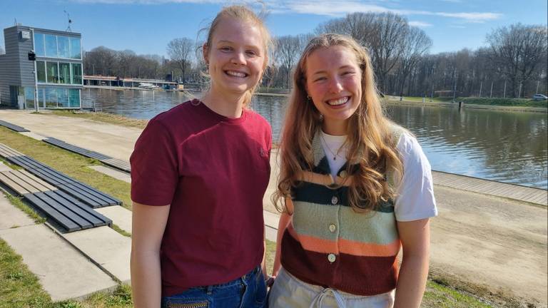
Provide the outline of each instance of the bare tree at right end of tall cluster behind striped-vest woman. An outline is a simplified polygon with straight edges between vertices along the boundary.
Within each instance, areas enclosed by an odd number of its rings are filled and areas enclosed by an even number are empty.
[[[432,47],[432,40],[421,29],[411,27],[403,41],[403,50],[400,66],[400,96],[407,76],[417,66],[422,56]]]

